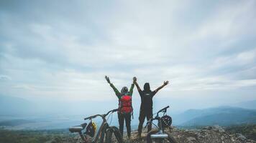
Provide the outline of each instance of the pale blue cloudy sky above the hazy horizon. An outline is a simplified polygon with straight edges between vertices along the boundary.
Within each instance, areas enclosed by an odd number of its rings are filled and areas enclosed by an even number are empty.
[[[256,99],[255,25],[254,0],[1,0],[0,94],[114,101],[108,75],[169,80],[155,98],[177,108]]]

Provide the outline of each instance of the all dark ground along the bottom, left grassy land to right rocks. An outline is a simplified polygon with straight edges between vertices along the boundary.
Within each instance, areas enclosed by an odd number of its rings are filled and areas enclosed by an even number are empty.
[[[250,131],[256,128],[250,128]],[[239,130],[240,131],[240,130]],[[255,133],[238,134],[229,133],[222,127],[204,127],[201,129],[172,129],[171,134],[180,143],[256,143]],[[146,131],[142,133],[142,137],[137,138],[137,132],[132,132],[131,139],[124,137],[124,142],[144,143],[146,142]],[[247,138],[247,137],[250,137]],[[113,137],[114,138],[114,137]],[[50,131],[12,131],[0,129],[0,143],[81,143],[78,134],[71,134],[68,129],[50,130]],[[116,141],[113,140],[115,143]]]

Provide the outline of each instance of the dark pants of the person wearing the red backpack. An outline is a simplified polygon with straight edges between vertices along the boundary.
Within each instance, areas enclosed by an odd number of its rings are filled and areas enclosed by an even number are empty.
[[[128,137],[130,137],[131,136],[131,114],[118,113],[119,130],[122,135],[124,132],[124,120],[127,126],[127,135]]]

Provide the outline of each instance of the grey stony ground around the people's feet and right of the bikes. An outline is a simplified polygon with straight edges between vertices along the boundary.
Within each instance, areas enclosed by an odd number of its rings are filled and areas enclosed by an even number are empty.
[[[173,137],[182,143],[254,143],[242,134],[229,134],[219,126],[205,127],[202,129],[173,129]],[[132,132],[132,139],[126,142],[142,143],[146,134],[142,134],[141,139],[137,139],[137,132]],[[256,143],[256,142],[255,142]]]

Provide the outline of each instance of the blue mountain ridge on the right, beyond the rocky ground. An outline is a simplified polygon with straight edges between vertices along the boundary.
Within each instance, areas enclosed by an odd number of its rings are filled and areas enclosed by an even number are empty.
[[[190,109],[173,117],[173,123],[180,126],[228,126],[234,124],[256,124],[256,110],[238,107],[216,107]]]

